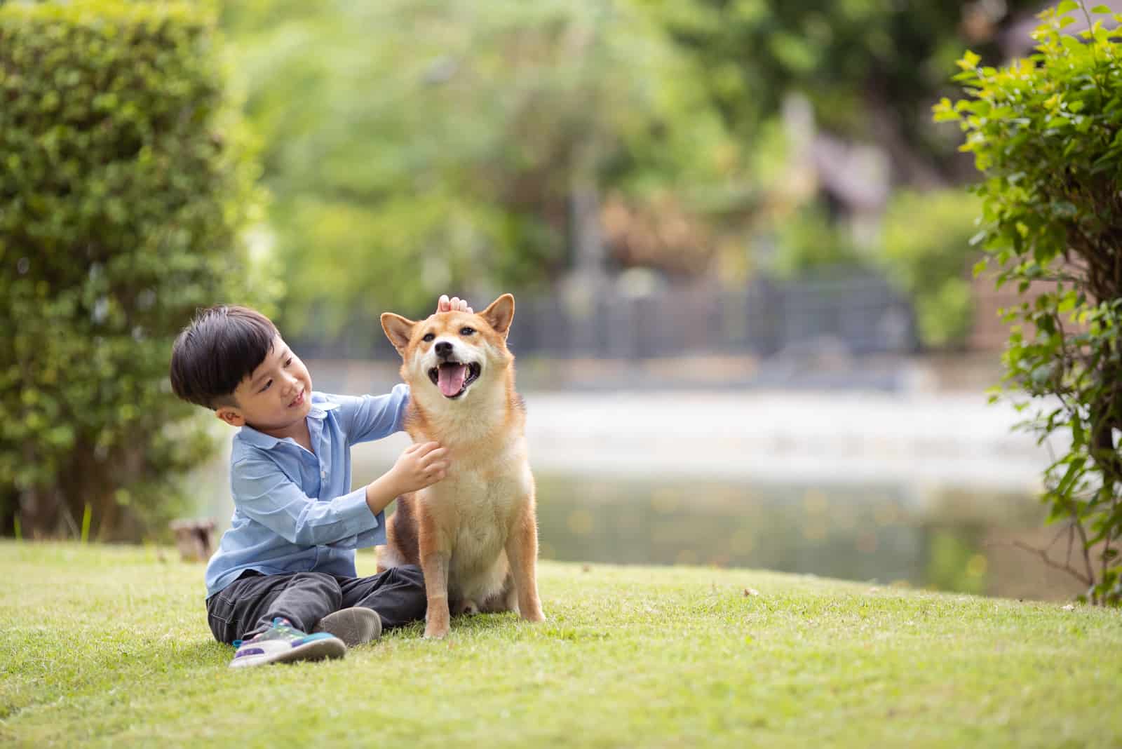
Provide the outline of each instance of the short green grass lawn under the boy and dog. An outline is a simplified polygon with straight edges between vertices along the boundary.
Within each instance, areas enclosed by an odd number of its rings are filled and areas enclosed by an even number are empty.
[[[481,616],[443,641],[414,626],[342,660],[231,671],[201,564],[3,543],[0,571],[0,743],[1122,745],[1118,611],[543,563],[543,625]]]

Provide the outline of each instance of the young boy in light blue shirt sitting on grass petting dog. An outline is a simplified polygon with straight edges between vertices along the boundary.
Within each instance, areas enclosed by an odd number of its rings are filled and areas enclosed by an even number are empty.
[[[471,312],[441,296],[436,312]],[[172,348],[172,388],[241,427],[230,453],[233,518],[206,565],[206,613],[231,667],[342,657],[425,613],[420,567],[359,577],[355,549],[386,543],[385,508],[444,478],[445,450],[411,445],[351,491],[350,446],[402,428],[410,391],[312,391],[304,363],[254,309],[199,313]]]

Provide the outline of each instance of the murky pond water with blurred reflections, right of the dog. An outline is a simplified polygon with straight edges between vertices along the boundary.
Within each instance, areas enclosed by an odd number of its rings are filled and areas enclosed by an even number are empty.
[[[1072,583],[1012,546],[1036,543],[1028,494],[900,487],[736,486],[539,475],[544,558],[812,573],[1015,598]]]

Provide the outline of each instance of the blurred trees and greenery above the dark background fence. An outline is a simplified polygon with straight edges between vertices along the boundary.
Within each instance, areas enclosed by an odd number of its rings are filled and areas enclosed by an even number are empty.
[[[1022,52],[1009,30],[1036,9],[224,3],[283,329],[337,333],[447,289],[544,292],[582,270],[742,286],[842,265],[886,272],[925,343],[962,344],[973,166],[930,108],[967,46]]]

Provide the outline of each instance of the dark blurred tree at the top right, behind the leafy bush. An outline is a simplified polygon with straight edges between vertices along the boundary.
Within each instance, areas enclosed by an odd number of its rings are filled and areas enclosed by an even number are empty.
[[[946,71],[967,45],[1002,56],[999,31],[1038,0],[637,0],[690,52],[697,83],[748,142],[792,91],[826,130],[876,142],[894,182],[962,181],[957,141],[930,127]]]

